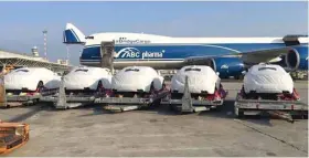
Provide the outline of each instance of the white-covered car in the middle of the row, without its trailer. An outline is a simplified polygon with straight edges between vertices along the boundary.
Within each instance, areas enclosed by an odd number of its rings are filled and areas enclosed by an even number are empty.
[[[163,77],[148,66],[128,66],[119,71],[111,80],[111,88],[117,92],[145,92],[151,87],[160,91]]]

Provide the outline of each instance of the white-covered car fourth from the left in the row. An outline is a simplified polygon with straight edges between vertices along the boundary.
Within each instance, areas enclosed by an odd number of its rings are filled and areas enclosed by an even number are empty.
[[[189,81],[190,93],[204,93],[214,94],[215,88],[220,88],[221,78],[211,69],[205,65],[189,65],[184,66],[173,75],[171,80],[171,92],[183,94],[185,76]]]

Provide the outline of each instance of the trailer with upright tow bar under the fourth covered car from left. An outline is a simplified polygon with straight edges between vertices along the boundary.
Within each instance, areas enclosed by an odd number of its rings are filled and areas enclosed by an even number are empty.
[[[177,110],[179,113],[196,113],[203,110],[210,110],[212,108],[219,108],[224,104],[224,98],[228,94],[227,91],[221,89],[222,97],[219,99],[205,99],[205,98],[192,98],[189,91],[189,77],[185,76],[184,92],[181,99],[173,99],[171,97],[166,97],[162,99],[161,104],[169,105],[170,109]]]

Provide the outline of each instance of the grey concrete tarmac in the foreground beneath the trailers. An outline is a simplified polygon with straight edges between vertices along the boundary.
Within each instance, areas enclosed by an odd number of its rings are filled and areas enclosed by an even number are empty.
[[[47,105],[0,109],[0,118],[30,124],[30,140],[10,157],[308,157],[308,119],[233,116],[238,82],[221,110],[177,115],[153,109],[110,114],[102,106],[56,110]],[[308,82],[296,82],[308,104]]]

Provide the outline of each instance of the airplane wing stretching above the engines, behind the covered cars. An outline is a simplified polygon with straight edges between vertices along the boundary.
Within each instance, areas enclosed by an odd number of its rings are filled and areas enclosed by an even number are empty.
[[[292,48],[284,46],[278,49],[256,50],[242,53],[231,53],[225,55],[191,56],[184,59],[184,63],[201,63],[214,57],[239,57],[245,64],[258,64],[267,62],[278,62],[279,56],[291,51]]]

